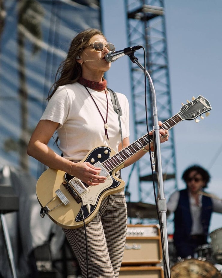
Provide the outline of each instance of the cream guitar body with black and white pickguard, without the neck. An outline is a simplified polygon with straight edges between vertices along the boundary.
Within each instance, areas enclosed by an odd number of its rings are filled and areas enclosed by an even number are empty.
[[[81,161],[94,161],[94,165],[102,168],[101,175],[107,176],[107,180],[100,185],[88,186],[68,173],[51,168],[40,176],[36,185],[36,195],[52,221],[67,229],[81,227],[82,213],[87,224],[95,217],[104,197],[124,189],[125,182],[115,176],[124,163],[119,164],[118,161],[118,167],[115,165],[115,169],[110,173],[101,164],[112,154],[115,154],[115,151],[110,147],[98,146]],[[113,168],[113,163],[110,167]]]

